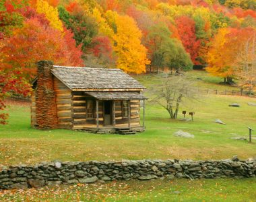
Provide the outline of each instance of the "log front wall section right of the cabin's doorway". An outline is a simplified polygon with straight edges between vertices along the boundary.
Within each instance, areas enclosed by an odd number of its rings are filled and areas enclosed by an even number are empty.
[[[140,115],[139,115],[139,100],[131,100],[131,119],[130,124],[132,126],[139,126],[140,124]],[[117,127],[127,127],[129,123],[129,118],[124,118],[122,116],[122,101],[115,101],[115,120]]]

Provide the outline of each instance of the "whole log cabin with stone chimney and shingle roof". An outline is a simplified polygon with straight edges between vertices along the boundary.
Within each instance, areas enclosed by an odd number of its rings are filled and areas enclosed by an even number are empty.
[[[64,67],[52,61],[39,61],[37,68],[31,99],[35,129],[121,134],[145,130],[146,88],[121,69]]]

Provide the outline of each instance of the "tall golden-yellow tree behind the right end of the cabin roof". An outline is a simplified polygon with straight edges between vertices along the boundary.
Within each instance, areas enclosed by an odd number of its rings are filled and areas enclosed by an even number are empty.
[[[115,24],[117,34],[115,52],[117,54],[117,67],[129,73],[146,72],[147,49],[141,44],[141,31],[137,24],[127,15],[116,15]]]

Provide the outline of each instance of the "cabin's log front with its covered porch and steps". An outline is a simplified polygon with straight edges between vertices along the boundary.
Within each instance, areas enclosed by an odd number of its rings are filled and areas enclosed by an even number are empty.
[[[139,92],[73,92],[73,129],[94,133],[142,132],[145,99]]]

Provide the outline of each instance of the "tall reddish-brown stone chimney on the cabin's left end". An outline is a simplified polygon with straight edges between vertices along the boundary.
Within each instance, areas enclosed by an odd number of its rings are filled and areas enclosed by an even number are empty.
[[[36,98],[36,127],[37,129],[57,128],[57,104],[53,89],[52,61],[38,61]]]

